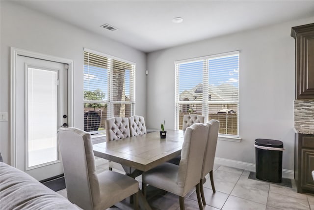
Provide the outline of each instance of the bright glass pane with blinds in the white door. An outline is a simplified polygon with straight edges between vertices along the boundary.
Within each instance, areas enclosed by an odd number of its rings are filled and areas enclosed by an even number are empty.
[[[28,167],[57,160],[57,72],[28,68]]]

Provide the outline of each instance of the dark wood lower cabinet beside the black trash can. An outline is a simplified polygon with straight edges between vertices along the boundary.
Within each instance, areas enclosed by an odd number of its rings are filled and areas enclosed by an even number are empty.
[[[314,135],[295,134],[294,179],[299,193],[314,193]]]

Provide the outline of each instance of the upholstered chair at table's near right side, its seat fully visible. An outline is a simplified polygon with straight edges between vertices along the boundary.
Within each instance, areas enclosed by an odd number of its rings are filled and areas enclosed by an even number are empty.
[[[185,130],[180,165],[163,163],[142,174],[142,190],[146,194],[146,184],[155,186],[179,196],[180,209],[184,210],[184,196],[193,187],[200,210],[203,209],[199,182],[207,144],[208,125],[196,123]]]

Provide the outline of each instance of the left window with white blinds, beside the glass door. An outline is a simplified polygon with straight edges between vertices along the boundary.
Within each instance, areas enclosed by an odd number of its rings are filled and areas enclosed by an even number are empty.
[[[84,49],[84,130],[105,133],[105,120],[135,114],[135,63]]]

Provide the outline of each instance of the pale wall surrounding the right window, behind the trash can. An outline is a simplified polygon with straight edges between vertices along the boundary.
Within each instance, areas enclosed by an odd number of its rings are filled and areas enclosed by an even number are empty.
[[[294,39],[291,27],[314,17],[242,31],[148,54],[147,126],[174,128],[174,61],[240,51],[239,135],[219,140],[216,157],[255,163],[257,138],[284,142],[283,168],[294,167]],[[194,32],[197,30],[194,30]]]

